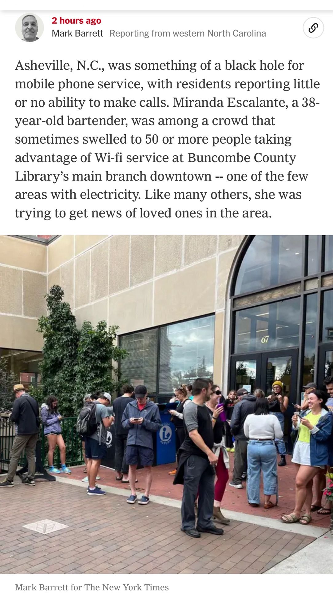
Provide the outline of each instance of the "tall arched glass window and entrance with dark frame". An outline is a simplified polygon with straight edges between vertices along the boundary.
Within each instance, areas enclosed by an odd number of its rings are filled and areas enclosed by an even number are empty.
[[[332,236],[249,237],[232,282],[230,386],[266,394],[282,380],[291,403],[332,373]]]

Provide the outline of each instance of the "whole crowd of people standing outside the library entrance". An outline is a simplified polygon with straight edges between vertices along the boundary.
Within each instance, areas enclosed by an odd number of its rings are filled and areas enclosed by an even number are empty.
[[[326,472],[333,464],[332,377],[324,381],[323,389],[326,390],[318,389],[315,383],[308,383],[304,388],[302,405],[295,404],[292,415],[294,449],[291,461],[297,468],[296,502],[293,512],[282,515],[281,521],[307,525],[313,512],[331,514],[332,502],[327,501],[322,506],[322,498]],[[179,385],[171,399],[178,405],[169,410],[176,434],[177,457],[177,468],[170,474],[174,475],[175,485],[183,485],[181,530],[193,538],[200,537],[202,532],[223,534],[221,525],[230,523],[221,510],[225,487],[230,480],[230,453],[234,453],[234,459],[229,486],[241,489],[246,482],[248,504],[258,507],[261,505],[262,472],[264,509],[278,503],[277,466],[286,465],[284,415],[289,399],[281,381],[272,384],[272,393],[268,397],[261,389],[256,389],[253,394],[248,389],[229,391],[225,399],[219,385],[211,379],[197,378],[192,385]],[[34,485],[34,449],[40,421],[49,445],[50,474],[70,474],[71,470],[66,466],[57,398],[50,395],[39,416],[38,403],[22,384],[14,386],[14,393],[16,399],[11,420],[16,435],[7,478],[0,486],[14,486],[18,460],[24,450],[28,461],[24,484]],[[77,431],[82,440],[87,473],[82,480],[87,482],[87,494],[101,496],[106,493],[96,485],[96,481],[101,460],[108,451],[112,424],[116,480],[129,483],[128,504],[137,501],[138,504],[148,504],[154,461],[153,434],[159,431],[162,422],[159,408],[149,400],[144,385],[134,389],[125,384],[122,395],[113,402],[108,392],[85,395],[84,408],[77,419]],[[53,464],[56,446],[60,451],[60,469]],[[144,467],[146,483],[140,499],[136,495],[139,464]],[[272,496],[275,496],[275,502]]]

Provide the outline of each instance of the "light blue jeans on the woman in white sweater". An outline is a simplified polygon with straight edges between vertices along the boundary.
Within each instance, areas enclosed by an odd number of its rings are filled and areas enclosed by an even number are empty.
[[[274,440],[249,440],[248,442],[248,480],[246,492],[251,504],[260,504],[260,475],[264,478],[264,494],[278,493],[278,473],[276,471],[276,447]]]

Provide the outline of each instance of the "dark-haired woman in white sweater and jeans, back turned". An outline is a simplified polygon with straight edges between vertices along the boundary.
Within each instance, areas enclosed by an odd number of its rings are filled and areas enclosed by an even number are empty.
[[[276,471],[275,439],[283,438],[280,423],[275,415],[269,414],[268,401],[260,397],[254,405],[254,414],[246,416],[244,433],[248,442],[248,480],[246,490],[250,506],[260,504],[260,475],[264,479],[264,508],[274,506],[270,498],[278,494],[278,474]]]

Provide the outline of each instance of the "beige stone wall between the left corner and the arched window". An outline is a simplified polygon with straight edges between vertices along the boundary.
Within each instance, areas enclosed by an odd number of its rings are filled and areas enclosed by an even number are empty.
[[[233,236],[63,236],[48,250],[48,288],[60,284],[79,325],[119,333],[216,313],[214,378],[222,383]],[[195,288],[195,292],[192,291]]]

